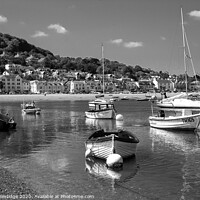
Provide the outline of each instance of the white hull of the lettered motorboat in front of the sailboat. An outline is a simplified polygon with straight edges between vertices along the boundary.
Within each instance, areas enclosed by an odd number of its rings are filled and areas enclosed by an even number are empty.
[[[149,117],[153,128],[194,130],[199,126],[200,114],[179,117]]]

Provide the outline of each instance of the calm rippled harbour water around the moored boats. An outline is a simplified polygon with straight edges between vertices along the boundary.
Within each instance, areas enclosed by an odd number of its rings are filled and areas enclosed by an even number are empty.
[[[0,134],[0,165],[39,194],[60,199],[64,195],[76,195],[76,199],[200,199],[198,137],[192,132],[150,128],[149,102],[116,102],[123,122],[86,119],[87,101],[37,102],[42,109],[37,116],[23,115],[20,103],[1,103],[1,111],[14,116],[17,129]],[[119,171],[107,169],[100,160],[85,160],[84,142],[90,134],[98,128],[120,127],[139,138],[136,158],[125,161]]]

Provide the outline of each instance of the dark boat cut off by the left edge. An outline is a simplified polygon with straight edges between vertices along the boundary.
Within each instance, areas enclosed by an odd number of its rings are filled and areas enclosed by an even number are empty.
[[[15,129],[16,125],[17,123],[14,121],[12,117],[10,117],[8,114],[4,115],[0,113],[0,130],[1,131]]]

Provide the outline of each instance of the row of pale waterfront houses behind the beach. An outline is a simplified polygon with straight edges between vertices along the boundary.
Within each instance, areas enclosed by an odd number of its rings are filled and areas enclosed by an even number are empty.
[[[161,80],[153,78],[152,80],[140,80],[134,82],[131,79],[120,79],[118,81],[105,81],[105,92],[142,91],[175,91],[181,83],[175,83],[171,80]],[[182,85],[185,83],[182,82]],[[190,83],[188,89],[195,91],[199,83]],[[179,87],[181,88],[181,87]],[[182,89],[184,90],[184,86]],[[27,81],[19,75],[1,75],[0,92],[1,93],[94,93],[101,92],[103,85],[101,80],[68,80],[68,81]],[[179,90],[181,91],[181,90]]]

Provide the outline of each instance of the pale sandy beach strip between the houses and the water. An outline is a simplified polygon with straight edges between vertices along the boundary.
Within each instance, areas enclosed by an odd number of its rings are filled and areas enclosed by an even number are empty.
[[[6,94],[0,95],[0,102],[13,102],[13,101],[90,101],[94,100],[97,94]],[[146,96],[145,93],[136,93],[136,94],[105,94],[106,99],[112,97],[127,97],[129,100],[144,99]],[[155,95],[155,94],[152,94]],[[168,93],[167,96],[171,97],[177,95],[177,93]],[[158,99],[161,98],[160,93],[156,93]]]

